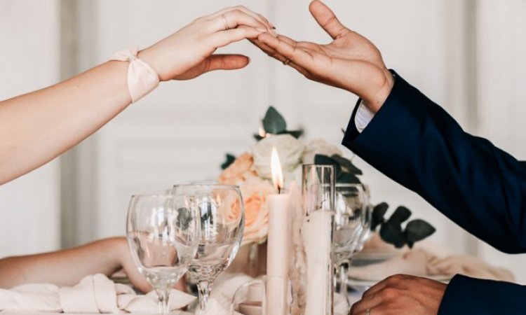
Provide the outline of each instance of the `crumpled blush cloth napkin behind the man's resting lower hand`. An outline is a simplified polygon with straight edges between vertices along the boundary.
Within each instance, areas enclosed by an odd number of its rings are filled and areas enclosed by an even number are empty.
[[[377,264],[349,269],[349,276],[359,280],[381,281],[391,274],[428,277],[464,274],[480,279],[514,281],[513,274],[507,269],[488,265],[480,258],[468,255],[448,255],[441,258],[424,248],[415,248]]]

